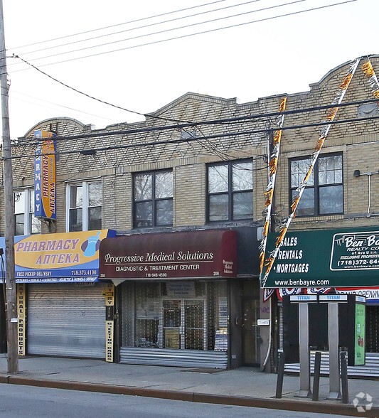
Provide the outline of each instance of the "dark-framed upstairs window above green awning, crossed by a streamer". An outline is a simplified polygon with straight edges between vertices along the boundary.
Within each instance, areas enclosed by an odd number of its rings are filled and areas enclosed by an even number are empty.
[[[291,203],[311,160],[290,161]],[[343,213],[342,154],[319,156],[297,207],[297,216]]]

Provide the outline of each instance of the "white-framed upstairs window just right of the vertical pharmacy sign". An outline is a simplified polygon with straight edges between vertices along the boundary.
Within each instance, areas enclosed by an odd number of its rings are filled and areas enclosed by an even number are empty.
[[[68,185],[69,232],[102,228],[102,182],[83,181]]]

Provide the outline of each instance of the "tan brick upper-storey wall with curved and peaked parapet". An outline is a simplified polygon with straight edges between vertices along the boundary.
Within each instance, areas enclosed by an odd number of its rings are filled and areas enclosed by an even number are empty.
[[[379,58],[372,63],[379,73]],[[353,77],[344,102],[373,98],[367,79],[362,72],[362,63]],[[287,110],[306,109],[330,104],[336,96],[338,85],[348,71],[348,65],[331,70],[319,83],[311,85],[309,92],[288,96]],[[311,81],[311,80],[310,80]],[[189,227],[205,224],[206,164],[232,159],[253,158],[254,161],[254,222],[262,224],[267,187],[267,134],[252,132],[267,127],[276,127],[276,117],[258,117],[243,124],[231,122],[212,125],[188,126],[186,131],[195,131],[198,136],[223,135],[209,139],[159,144],[162,141],[181,139],[178,129],[154,130],[174,126],[178,120],[201,122],[215,119],[265,115],[277,112],[282,95],[265,97],[256,102],[237,104],[235,99],[222,99],[188,93],[167,104],[153,115],[164,119],[146,118],[136,124],[120,123],[106,129],[92,130],[90,125],[69,118],[40,122],[21,139],[14,148],[14,186],[33,186],[33,151],[31,141],[35,129],[58,129],[58,136],[94,137],[58,139],[57,150],[57,223],[56,232],[65,230],[65,193],[67,184],[75,181],[101,179],[103,189],[102,223],[105,228],[120,231],[132,229],[132,177],[139,171],[172,168],[174,173],[174,227]],[[357,117],[358,106],[341,108],[336,120]],[[289,114],[284,119],[285,127],[323,122],[327,111],[317,110]],[[149,128],[149,132],[122,133],[131,129]],[[110,133],[117,133],[110,136]],[[242,132],[242,134],[233,134]],[[243,133],[249,132],[249,133]],[[321,132],[321,127],[285,130],[282,135],[281,154],[277,172],[275,195],[276,218],[279,222],[289,214],[289,168],[288,161],[296,156],[311,155]],[[355,178],[353,171],[362,173],[378,171],[379,151],[378,119],[363,123],[334,125],[324,144],[323,154],[343,153],[344,215],[297,218],[292,228],[329,228],[375,225],[376,215],[366,216],[368,211],[368,176]],[[154,143],[154,145],[152,145]],[[150,145],[146,145],[150,144]],[[98,149],[94,156],[82,155],[79,151]],[[72,154],[76,151],[75,154]],[[379,213],[379,175],[371,180],[370,213]],[[0,193],[0,204],[4,201]],[[4,217],[0,220],[0,232],[4,231]],[[43,227],[43,232],[47,232]]]

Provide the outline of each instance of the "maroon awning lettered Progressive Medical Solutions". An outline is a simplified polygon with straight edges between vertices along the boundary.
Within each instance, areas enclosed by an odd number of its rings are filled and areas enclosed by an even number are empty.
[[[100,279],[235,277],[236,232],[129,235],[100,244]]]

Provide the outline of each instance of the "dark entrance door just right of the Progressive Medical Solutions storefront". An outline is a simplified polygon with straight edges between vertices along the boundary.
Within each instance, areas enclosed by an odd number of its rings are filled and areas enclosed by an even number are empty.
[[[242,349],[245,365],[260,365],[260,334],[257,319],[260,314],[260,301],[243,299]]]

